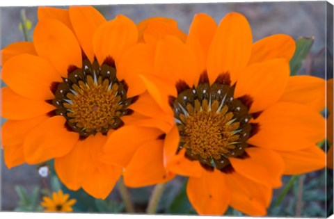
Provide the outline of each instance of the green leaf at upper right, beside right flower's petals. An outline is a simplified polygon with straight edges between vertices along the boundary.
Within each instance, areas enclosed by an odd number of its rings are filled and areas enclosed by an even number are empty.
[[[290,60],[290,75],[296,75],[303,65],[303,60],[305,60],[306,56],[308,56],[308,52],[310,51],[313,41],[315,38],[299,38],[296,41],[296,51],[294,52],[294,56]]]

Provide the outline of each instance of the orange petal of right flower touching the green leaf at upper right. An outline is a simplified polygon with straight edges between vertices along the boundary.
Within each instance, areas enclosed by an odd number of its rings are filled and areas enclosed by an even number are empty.
[[[289,61],[294,56],[296,43],[289,35],[276,34],[263,38],[253,44],[248,65],[273,58],[285,58]]]

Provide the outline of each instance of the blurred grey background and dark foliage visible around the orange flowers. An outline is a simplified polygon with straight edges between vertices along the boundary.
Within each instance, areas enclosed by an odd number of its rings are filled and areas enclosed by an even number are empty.
[[[270,3],[177,3],[177,4],[145,4],[145,5],[113,5],[96,6],[97,10],[106,17],[113,19],[118,14],[126,15],[141,22],[149,17],[169,17],[177,21],[182,31],[188,33],[193,15],[196,13],[207,13],[218,23],[222,17],[232,11],[244,14],[253,31],[253,41],[260,40],[268,35],[285,33],[297,40],[300,37],[314,37],[314,42],[310,49],[310,54],[303,62],[298,74],[312,74],[324,78],[325,76],[325,56],[326,56],[326,2],[270,2]],[[1,42],[0,48],[8,44],[24,41],[24,35],[19,29],[20,11],[22,7],[0,8],[1,10]],[[37,8],[26,7],[26,17],[31,20],[32,28],[37,20]],[[333,21],[333,18],[332,18]],[[333,24],[333,23],[332,23]],[[333,26],[331,26],[333,33]],[[333,38],[332,38],[333,39]],[[333,48],[333,41],[328,47]],[[333,54],[333,49],[331,50]],[[332,57],[333,56],[329,56]],[[332,65],[333,71],[333,63]],[[3,123],[3,121],[2,121]],[[298,177],[297,177],[298,178]],[[285,184],[291,184],[287,195],[281,200],[279,206],[273,204],[269,209],[269,216],[305,216],[305,217],[325,217],[326,216],[326,170],[312,172],[298,179],[291,180],[291,177],[284,177]],[[302,178],[302,179],[301,179]],[[184,187],[183,177],[177,177],[170,181],[166,187],[166,194],[160,203],[160,212],[164,213],[194,213],[186,196],[180,193]],[[43,180],[38,175],[38,168],[35,166],[21,165],[8,170],[3,163],[1,154],[1,210],[13,211],[17,207],[19,195],[15,192],[15,186],[23,186],[27,193],[33,192],[35,186],[43,187]],[[48,182],[47,182],[48,183]],[[152,188],[131,189],[133,202],[137,211],[145,211],[145,207],[150,197]],[[274,200],[283,192],[283,188],[274,191]],[[333,192],[332,192],[333,194]],[[183,196],[182,196],[183,195]],[[111,193],[109,200],[120,201],[118,190]],[[175,210],[180,201],[184,205],[182,211]],[[181,202],[182,201],[182,202]],[[176,204],[175,204],[176,203]],[[301,206],[299,206],[301,205]],[[332,204],[333,205],[333,204]],[[168,208],[168,209],[166,209]],[[174,209],[173,209],[174,208]],[[82,210],[84,211],[84,210]],[[95,211],[86,209],[86,211]],[[241,216],[237,211],[229,210],[229,215]]]

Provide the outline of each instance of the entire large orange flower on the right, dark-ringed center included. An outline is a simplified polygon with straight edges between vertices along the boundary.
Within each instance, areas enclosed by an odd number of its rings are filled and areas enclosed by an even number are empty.
[[[282,175],[324,168],[316,143],[325,138],[325,82],[289,76],[294,50],[283,34],[253,44],[238,13],[218,26],[196,15],[185,43],[170,35],[157,42],[151,70],[142,75],[145,105],[167,130],[164,166],[189,177],[186,193],[198,213],[221,215],[230,205],[264,216]],[[145,184],[157,152],[134,156],[141,165],[127,166],[128,186]]]

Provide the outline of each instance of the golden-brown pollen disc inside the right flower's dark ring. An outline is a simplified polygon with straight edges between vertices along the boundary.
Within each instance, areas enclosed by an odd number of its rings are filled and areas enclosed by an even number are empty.
[[[190,104],[187,105],[189,116],[180,116],[184,122],[184,147],[191,149],[193,154],[200,155],[203,159],[221,159],[223,154],[227,154],[229,149],[235,148],[235,143],[239,140],[237,129],[239,122],[232,120],[233,113],[224,106],[221,112],[217,113],[218,102],[215,100],[210,109],[207,101],[202,104],[196,99],[195,111]],[[189,111],[190,110],[190,111]]]

